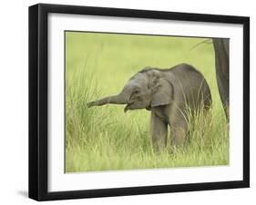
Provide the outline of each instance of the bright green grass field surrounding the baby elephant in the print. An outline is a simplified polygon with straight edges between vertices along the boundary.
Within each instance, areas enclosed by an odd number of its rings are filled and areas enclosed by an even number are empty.
[[[66,171],[109,171],[229,164],[229,130],[220,103],[211,43],[203,38],[66,33]],[[145,66],[190,63],[210,84],[212,108],[191,123],[180,149],[156,153],[149,112],[124,105],[87,108],[117,94]]]

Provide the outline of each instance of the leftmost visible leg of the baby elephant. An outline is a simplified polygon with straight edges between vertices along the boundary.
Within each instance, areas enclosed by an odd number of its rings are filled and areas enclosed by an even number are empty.
[[[156,113],[151,112],[150,132],[156,151],[161,151],[167,145],[168,124],[159,119]]]

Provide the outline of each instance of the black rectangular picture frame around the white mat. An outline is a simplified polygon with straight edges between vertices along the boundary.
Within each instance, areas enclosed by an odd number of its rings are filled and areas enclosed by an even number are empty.
[[[178,185],[157,185],[100,190],[47,190],[47,16],[50,13],[121,16],[148,19],[243,25],[243,180]],[[29,198],[67,200],[191,190],[221,190],[250,187],[250,18],[202,15],[76,5],[29,7]]]

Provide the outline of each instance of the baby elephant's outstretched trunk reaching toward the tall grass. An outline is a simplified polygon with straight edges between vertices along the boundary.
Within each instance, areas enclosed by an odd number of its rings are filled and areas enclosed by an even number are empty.
[[[108,97],[102,98],[95,102],[88,102],[87,106],[88,107],[101,106],[101,105],[108,104],[108,103],[126,104],[126,103],[128,103],[128,97],[126,94],[120,93],[118,95],[113,95],[113,96],[108,96]]]

